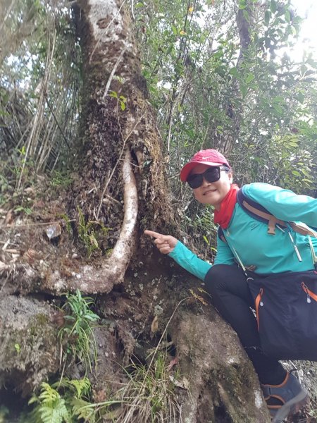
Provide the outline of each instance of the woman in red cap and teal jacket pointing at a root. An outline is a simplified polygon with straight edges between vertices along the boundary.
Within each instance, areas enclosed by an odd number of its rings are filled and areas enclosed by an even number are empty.
[[[187,181],[197,201],[214,207],[214,221],[225,235],[224,240],[218,238],[213,266],[170,235],[144,233],[156,238],[154,242],[160,252],[170,255],[205,282],[213,305],[235,329],[254,364],[273,422],[282,422],[306,403],[308,394],[278,360],[263,354],[257,322],[250,309],[254,308],[254,300],[244,271],[236,263],[251,268],[259,276],[310,271],[314,269],[317,240],[314,238],[309,248],[307,237],[296,234],[294,243],[292,234],[287,236],[279,227],[275,236],[268,235],[266,223],[249,216],[237,202],[238,187],[232,183],[232,169],[225,157],[214,149],[194,154],[182,168],[180,179]],[[265,183],[245,185],[244,192],[282,221],[302,221],[308,226],[317,226],[317,200],[312,197],[295,195]]]

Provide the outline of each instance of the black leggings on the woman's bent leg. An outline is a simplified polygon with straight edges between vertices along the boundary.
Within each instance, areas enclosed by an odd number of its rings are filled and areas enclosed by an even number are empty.
[[[282,383],[286,374],[284,367],[262,353],[256,318],[250,309],[254,302],[242,269],[216,264],[206,274],[205,285],[213,305],[237,332],[261,384]]]

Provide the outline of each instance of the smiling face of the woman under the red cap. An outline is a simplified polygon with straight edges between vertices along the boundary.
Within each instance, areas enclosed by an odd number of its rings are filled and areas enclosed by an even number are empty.
[[[210,166],[206,164],[197,164],[190,172],[193,173],[204,173]],[[220,172],[220,179],[216,182],[208,182],[203,178],[203,183],[198,188],[194,188],[194,197],[197,201],[202,204],[211,204],[216,210],[220,209],[220,204],[225,196],[230,191],[230,185],[232,184],[232,171]]]

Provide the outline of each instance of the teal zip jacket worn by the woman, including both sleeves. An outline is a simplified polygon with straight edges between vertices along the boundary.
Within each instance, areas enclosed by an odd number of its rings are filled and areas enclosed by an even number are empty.
[[[280,220],[300,221],[313,228],[317,226],[317,200],[313,197],[297,195],[266,183],[244,185],[244,194]],[[254,272],[257,274],[314,269],[317,238],[311,238],[312,252],[307,235],[301,235],[292,229],[282,231],[278,228],[275,229],[275,235],[270,235],[267,230],[266,223],[249,216],[237,203],[228,228],[223,230],[227,242],[220,238],[217,240],[214,264],[234,264],[240,259],[246,267],[255,266]],[[302,262],[297,257],[294,245],[297,246]],[[211,264],[199,259],[180,241],[169,256],[202,281],[211,268]]]

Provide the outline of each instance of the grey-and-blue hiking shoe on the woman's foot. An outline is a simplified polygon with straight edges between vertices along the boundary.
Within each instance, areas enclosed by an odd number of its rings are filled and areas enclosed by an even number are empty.
[[[287,416],[294,415],[307,403],[308,393],[299,380],[287,372],[280,385],[262,385],[264,399],[273,418],[272,423],[282,423]]]

